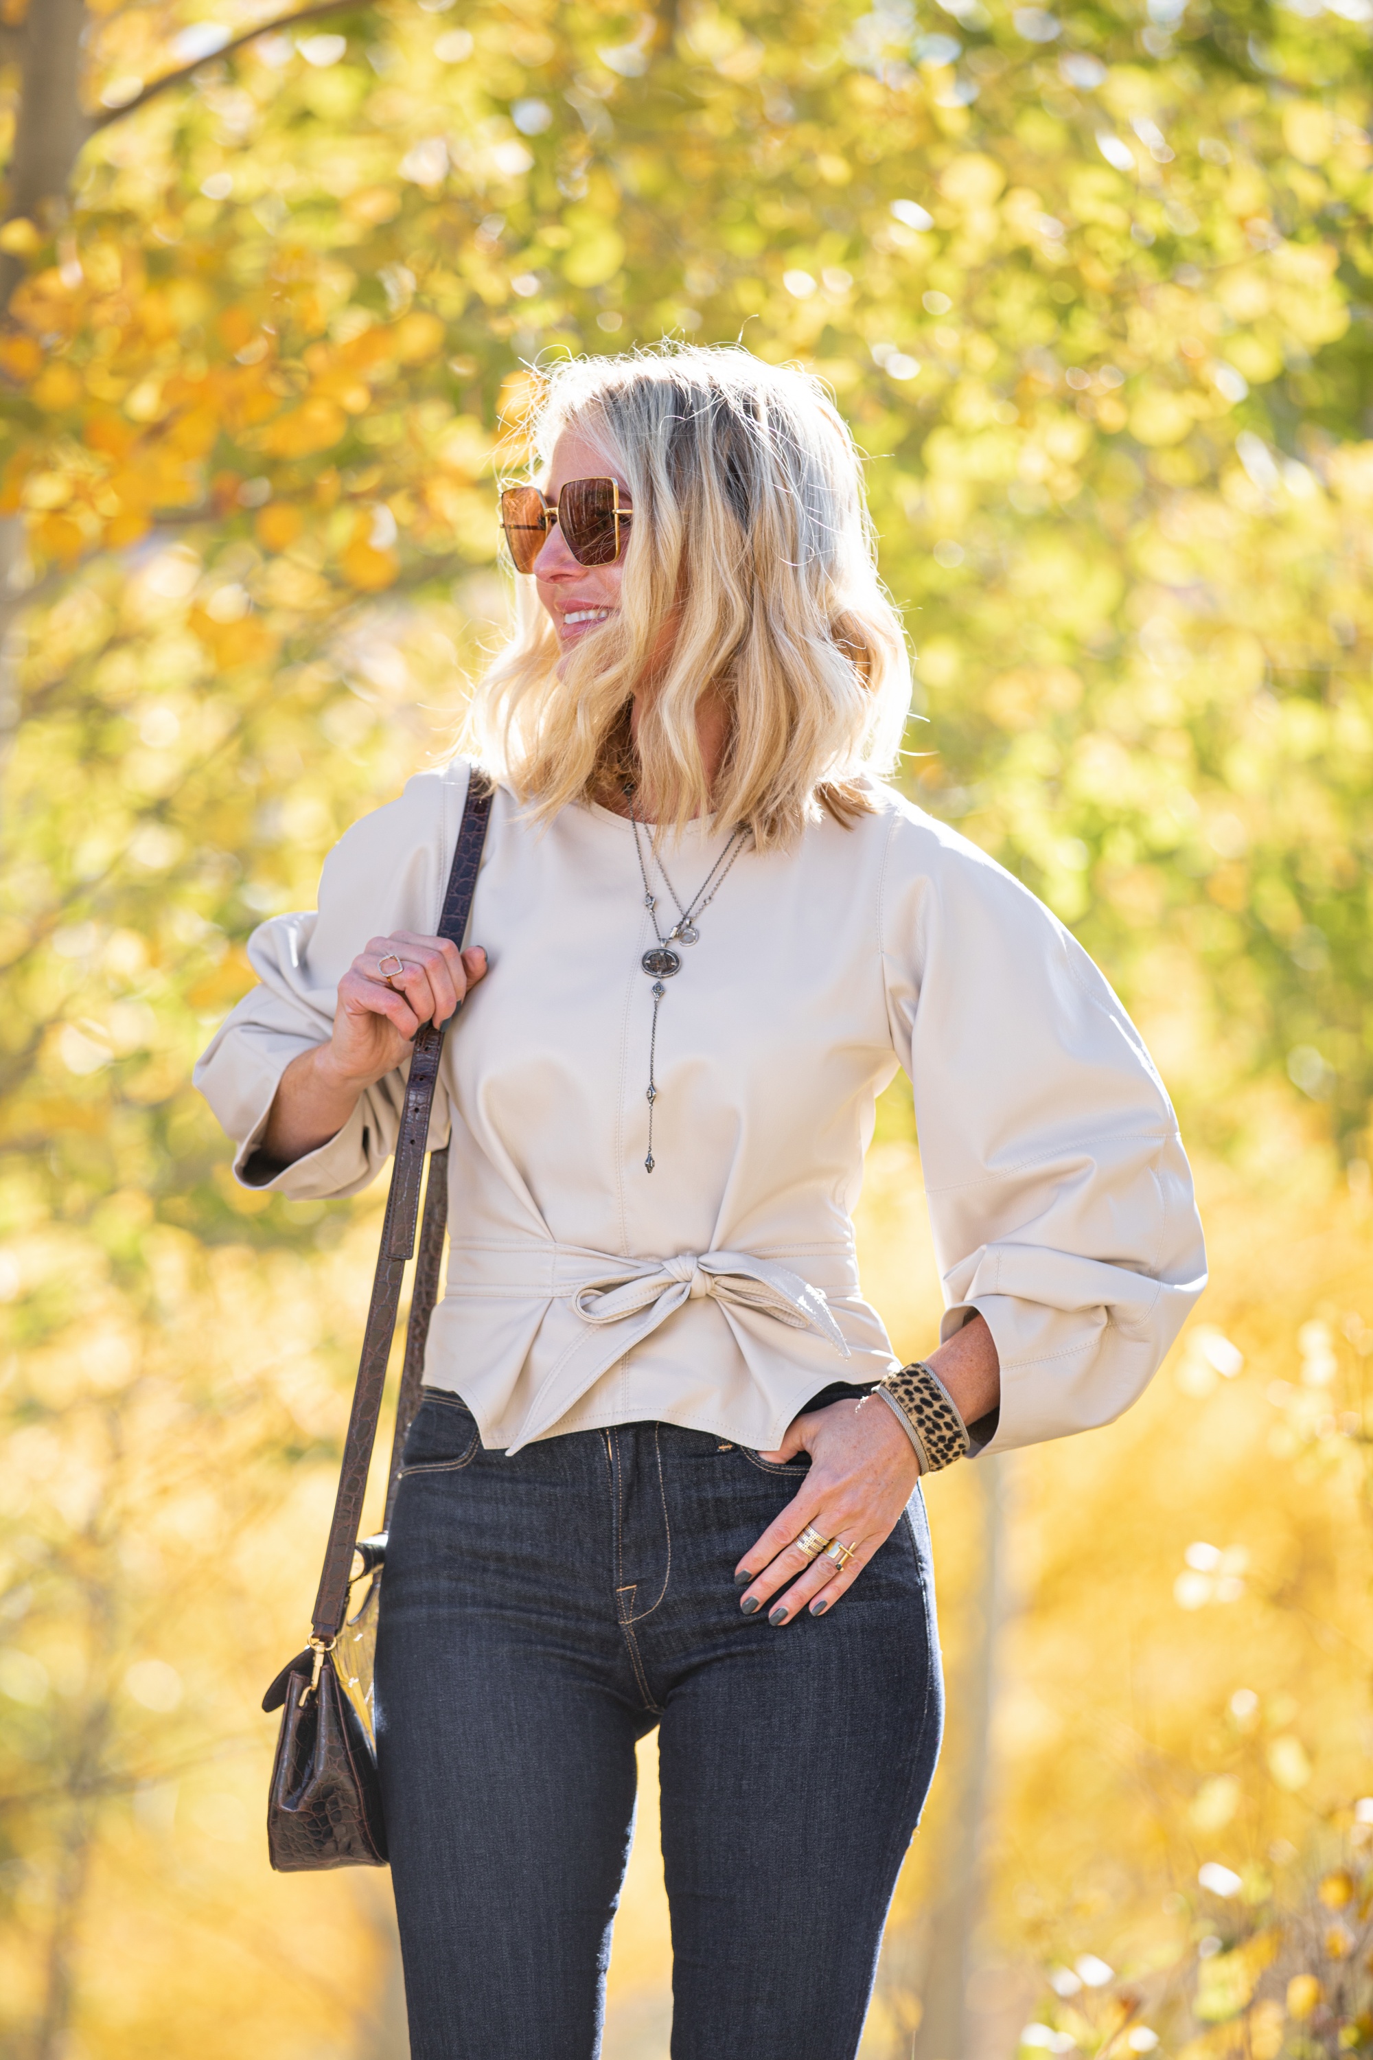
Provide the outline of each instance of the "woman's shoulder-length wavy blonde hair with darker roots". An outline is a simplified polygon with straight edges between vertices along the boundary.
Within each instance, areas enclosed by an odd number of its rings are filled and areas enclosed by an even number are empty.
[[[539,375],[529,428],[531,478],[576,428],[628,482],[634,523],[620,614],[566,657],[533,579],[517,579],[513,637],[471,705],[484,764],[535,820],[632,779],[669,832],[714,812],[758,849],[795,840],[821,808],[869,812],[910,711],[910,659],[860,459],[821,383],[741,348],[572,358]],[[696,735],[706,692],[727,711],[714,787]]]

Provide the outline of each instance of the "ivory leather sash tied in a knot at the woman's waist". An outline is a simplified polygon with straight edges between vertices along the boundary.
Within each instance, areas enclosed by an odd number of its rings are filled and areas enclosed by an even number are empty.
[[[506,1255],[502,1252],[502,1257]],[[576,1265],[576,1277],[564,1281],[525,1279],[517,1288],[504,1267],[496,1267],[496,1275],[504,1275],[496,1285],[496,1281],[480,1277],[480,1263],[488,1255],[471,1246],[457,1246],[449,1265],[449,1294],[508,1296],[513,1290],[523,1290],[531,1298],[548,1296],[570,1302],[585,1325],[583,1333],[543,1376],[519,1436],[508,1444],[511,1452],[519,1452],[531,1438],[550,1430],[615,1360],[650,1337],[683,1302],[712,1298],[720,1304],[727,1323],[733,1310],[772,1316],[793,1331],[811,1331],[815,1337],[823,1337],[842,1358],[850,1355],[823,1290],[801,1279],[790,1267],[778,1265],[776,1259],[760,1259],[755,1252],[615,1259],[609,1252],[572,1252],[566,1246],[554,1248],[550,1257],[562,1265]],[[731,1329],[735,1329],[733,1323]]]

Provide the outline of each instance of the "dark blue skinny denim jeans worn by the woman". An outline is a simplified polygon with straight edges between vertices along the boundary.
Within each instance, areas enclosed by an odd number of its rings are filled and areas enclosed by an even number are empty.
[[[852,2060],[943,1695],[918,1491],[832,1613],[741,1615],[807,1465],[671,1423],[506,1458],[426,1388],[377,1644],[412,2060],[595,2060],[653,1724],[673,2060]]]

